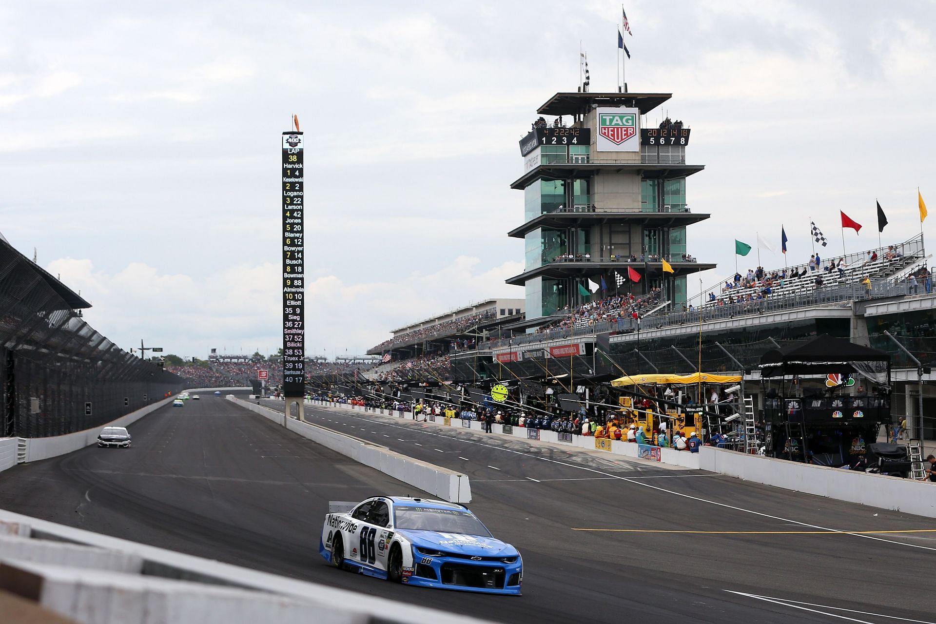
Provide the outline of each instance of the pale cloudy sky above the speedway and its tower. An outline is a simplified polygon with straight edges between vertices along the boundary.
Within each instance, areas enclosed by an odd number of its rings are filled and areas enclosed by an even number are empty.
[[[808,259],[918,232],[936,209],[936,5],[628,0],[631,91],[673,93],[707,166],[689,252]],[[522,297],[518,139],[550,94],[614,90],[621,4],[28,2],[0,6],[0,231],[124,348],[279,345],[279,136],[306,133],[310,354],[486,297]],[[626,35],[625,35],[626,36]],[[657,119],[651,113],[651,121]],[[936,223],[936,222],[933,222]],[[928,227],[932,223],[927,222]],[[933,236],[936,236],[934,231]],[[762,250],[762,264],[782,266]],[[748,263],[750,264],[750,263]],[[698,283],[690,280],[690,294]],[[695,282],[695,284],[693,284]]]

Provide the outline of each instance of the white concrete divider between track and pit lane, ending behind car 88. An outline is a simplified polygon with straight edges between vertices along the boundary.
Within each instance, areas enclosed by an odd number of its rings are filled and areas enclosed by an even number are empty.
[[[256,403],[236,399],[233,396],[228,396],[227,399],[270,419],[277,425],[285,425],[285,428],[298,433],[303,438],[326,446],[345,457],[351,457],[358,463],[384,472],[405,484],[429,492],[433,496],[450,502],[471,502],[471,484],[468,476],[461,472],[450,471],[425,461],[406,457],[385,446],[359,440],[344,433],[300,422],[295,418],[286,418],[282,412],[256,405]]]

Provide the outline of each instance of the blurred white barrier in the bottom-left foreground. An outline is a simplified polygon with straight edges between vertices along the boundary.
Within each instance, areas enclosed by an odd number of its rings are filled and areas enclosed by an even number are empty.
[[[367,590],[370,582],[361,579],[360,588]],[[51,621],[41,606],[77,621],[149,624],[481,624],[412,602],[258,572],[4,510],[0,590],[36,606],[29,621]]]

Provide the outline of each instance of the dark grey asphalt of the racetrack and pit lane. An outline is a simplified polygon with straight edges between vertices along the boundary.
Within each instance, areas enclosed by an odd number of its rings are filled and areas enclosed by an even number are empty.
[[[472,509],[523,554],[524,595],[330,569],[316,551],[328,501],[417,490],[213,396],[146,416],[130,428],[131,449],[0,473],[0,507],[505,622],[934,620],[936,532],[826,532],[936,529],[929,518],[393,417],[306,417],[469,474]],[[647,530],[675,532],[630,532]]]

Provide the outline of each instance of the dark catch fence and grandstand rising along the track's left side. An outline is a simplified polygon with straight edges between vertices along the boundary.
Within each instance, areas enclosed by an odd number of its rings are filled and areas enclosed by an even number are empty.
[[[0,239],[0,437],[99,427],[182,388],[85,323],[86,306]]]

